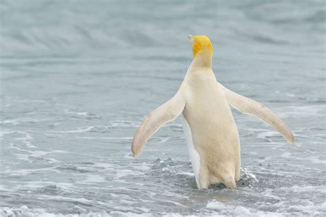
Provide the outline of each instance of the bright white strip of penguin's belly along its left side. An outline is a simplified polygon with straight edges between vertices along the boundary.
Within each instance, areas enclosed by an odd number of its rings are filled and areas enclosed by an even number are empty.
[[[199,185],[198,176],[199,176],[199,169],[200,169],[200,157],[197,150],[195,150],[195,147],[193,146],[193,136],[191,134],[191,128],[184,115],[182,115],[182,126],[184,129],[184,137],[186,138],[188,152],[191,158],[191,165],[193,165],[193,172],[195,174],[195,179],[197,185]]]

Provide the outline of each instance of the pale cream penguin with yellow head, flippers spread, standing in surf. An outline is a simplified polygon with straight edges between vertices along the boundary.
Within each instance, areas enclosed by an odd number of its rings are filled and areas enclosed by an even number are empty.
[[[230,189],[240,179],[241,155],[237,125],[230,106],[254,115],[279,131],[291,144],[294,136],[287,125],[265,105],[230,91],[217,82],[212,70],[213,45],[207,36],[188,36],[193,62],[180,89],[169,101],[146,116],[131,144],[134,157],[160,127],[182,115],[188,152],[199,189],[223,183]]]

